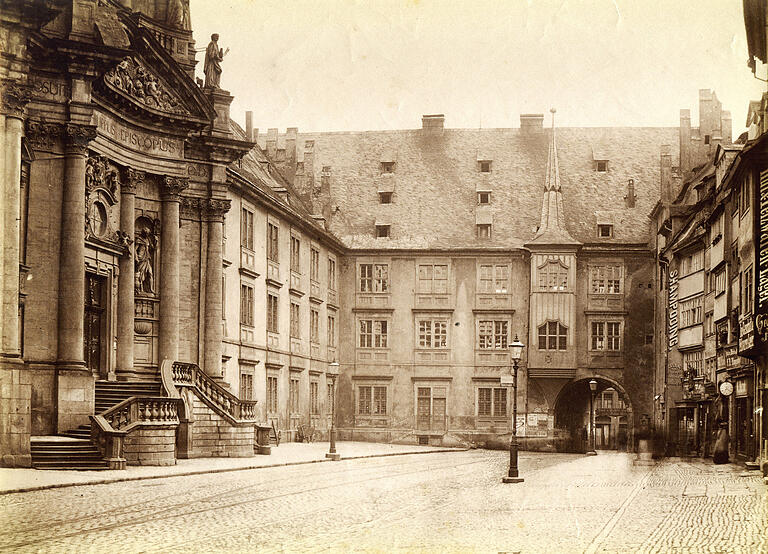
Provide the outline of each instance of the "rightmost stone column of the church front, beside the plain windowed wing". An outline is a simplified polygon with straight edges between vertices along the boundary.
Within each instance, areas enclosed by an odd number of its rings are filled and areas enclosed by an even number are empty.
[[[205,270],[205,373],[221,378],[221,273],[222,227],[231,201],[211,198],[204,214],[208,220],[208,248]]]

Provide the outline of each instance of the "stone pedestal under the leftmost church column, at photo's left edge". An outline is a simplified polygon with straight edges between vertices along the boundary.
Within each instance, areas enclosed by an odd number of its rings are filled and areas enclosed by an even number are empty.
[[[0,467],[31,467],[32,385],[21,360],[0,360]]]

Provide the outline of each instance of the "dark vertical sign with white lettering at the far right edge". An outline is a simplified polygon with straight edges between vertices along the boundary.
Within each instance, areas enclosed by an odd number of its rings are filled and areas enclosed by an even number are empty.
[[[768,170],[760,172],[755,210],[755,346],[768,346]]]

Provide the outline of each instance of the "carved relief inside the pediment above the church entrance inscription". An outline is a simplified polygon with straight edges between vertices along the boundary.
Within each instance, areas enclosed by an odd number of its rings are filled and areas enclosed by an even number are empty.
[[[127,96],[141,107],[161,112],[187,115],[175,93],[133,56],[124,58],[104,75],[104,82],[114,92]]]

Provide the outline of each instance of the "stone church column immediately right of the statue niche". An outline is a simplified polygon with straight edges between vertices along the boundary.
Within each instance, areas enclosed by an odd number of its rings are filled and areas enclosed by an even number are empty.
[[[161,183],[159,362],[179,357],[179,203],[186,179],[165,177]]]

